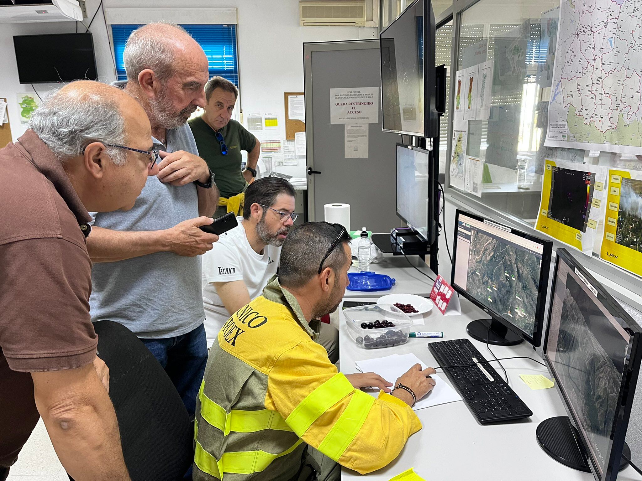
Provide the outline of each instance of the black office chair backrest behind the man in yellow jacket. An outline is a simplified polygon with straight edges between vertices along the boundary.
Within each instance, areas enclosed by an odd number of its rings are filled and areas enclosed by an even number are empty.
[[[194,460],[194,431],[176,388],[128,328],[97,321],[94,329],[132,481],[182,480]]]

